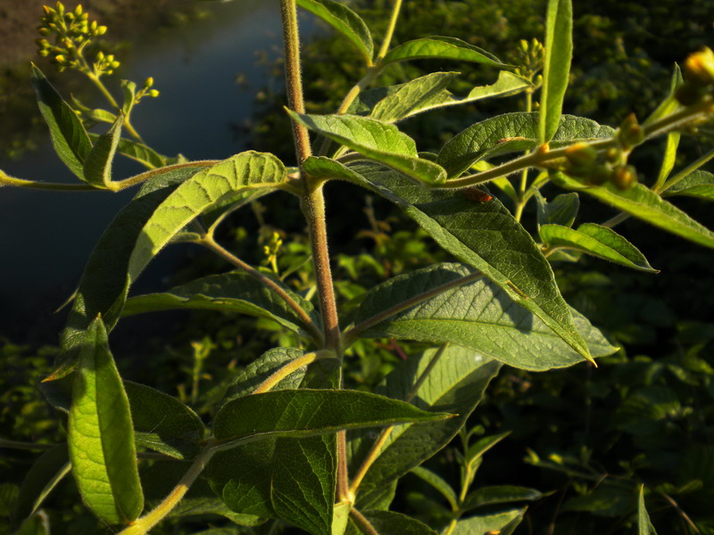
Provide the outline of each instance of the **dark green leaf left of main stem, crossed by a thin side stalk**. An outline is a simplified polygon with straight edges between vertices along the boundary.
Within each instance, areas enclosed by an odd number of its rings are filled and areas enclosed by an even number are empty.
[[[287,286],[275,281],[305,312],[311,315],[316,325],[320,318],[312,303],[292,292]],[[171,288],[168,292],[149,293],[127,300],[123,316],[170,309],[209,309],[238,312],[255,317],[266,317],[295,333],[307,334],[303,320],[286,305],[275,292],[263,284],[257,284],[253,276],[243,271],[231,271],[222,275],[205,276],[195,281]]]

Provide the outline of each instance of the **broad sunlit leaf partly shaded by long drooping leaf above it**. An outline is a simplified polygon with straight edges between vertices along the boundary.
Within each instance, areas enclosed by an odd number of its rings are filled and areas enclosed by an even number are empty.
[[[413,303],[362,332],[366,337],[389,337],[420,342],[452,342],[486,358],[530,370],[572,366],[583,358],[543,321],[520,308],[476,270],[461,264],[436,264],[409,275],[395,276],[370,290],[354,322],[374,320],[398,303]],[[585,317],[571,310],[575,325],[594,357],[614,348]]]

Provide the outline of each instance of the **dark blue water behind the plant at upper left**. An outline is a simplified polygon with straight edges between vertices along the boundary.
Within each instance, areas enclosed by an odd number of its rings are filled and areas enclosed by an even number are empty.
[[[253,87],[269,83],[255,53],[280,45],[277,0],[240,0],[212,9],[205,21],[135,44],[121,71],[122,78],[139,85],[154,76],[161,91],[159,98],[140,103],[132,119],[146,142],[190,160],[222,159],[243,150],[245,138],[232,125],[251,115],[254,101],[237,86],[236,75],[243,73]],[[306,22],[303,29],[310,31]],[[76,181],[49,141],[21,161],[0,159],[0,169],[33,180]],[[113,173],[123,178],[140,170],[133,162],[117,161]],[[134,193],[0,189],[0,335],[26,342],[56,333],[64,313],[53,310],[74,290],[96,240]],[[186,253],[175,249],[162,252],[150,273],[178,265]]]

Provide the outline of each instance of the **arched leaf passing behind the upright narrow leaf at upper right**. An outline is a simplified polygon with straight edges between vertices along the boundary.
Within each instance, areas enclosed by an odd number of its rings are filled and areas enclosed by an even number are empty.
[[[611,137],[615,130],[594,120],[563,115],[550,146],[556,148],[577,142]],[[482,120],[462,130],[444,145],[436,162],[449,177],[456,177],[471,164],[512,152],[524,152],[538,146],[538,113],[517,111]]]

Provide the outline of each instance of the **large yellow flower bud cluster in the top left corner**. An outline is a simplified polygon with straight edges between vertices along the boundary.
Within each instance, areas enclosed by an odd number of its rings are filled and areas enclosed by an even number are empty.
[[[82,9],[81,4],[70,11],[64,8],[62,2],[57,2],[54,8],[45,6],[45,14],[40,20],[37,32],[42,36],[35,40],[37,52],[49,58],[57,70],[62,72],[67,68],[85,67],[82,49],[93,38],[104,35],[106,26],[89,21],[89,13]],[[119,62],[112,58],[111,62],[102,63],[103,68],[107,65],[113,71],[119,66]],[[106,70],[98,70],[95,65],[95,73],[101,75],[106,73]]]

